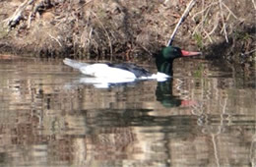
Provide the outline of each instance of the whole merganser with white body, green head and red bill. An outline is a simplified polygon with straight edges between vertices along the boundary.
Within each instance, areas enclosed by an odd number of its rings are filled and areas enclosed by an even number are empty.
[[[172,63],[180,57],[201,55],[201,52],[191,52],[175,46],[166,46],[156,55],[157,74],[151,73],[140,66],[129,63],[83,63],[69,58],[63,60],[64,64],[79,70],[82,74],[107,81],[135,81],[135,80],[157,80],[166,81],[172,76]],[[122,82],[120,82],[122,83]]]

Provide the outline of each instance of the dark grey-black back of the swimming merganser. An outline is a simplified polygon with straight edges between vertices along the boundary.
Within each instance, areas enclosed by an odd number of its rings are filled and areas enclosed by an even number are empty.
[[[111,63],[107,63],[107,65],[109,67],[129,71],[129,72],[133,73],[136,76],[136,78],[152,76],[152,73],[150,73],[149,71],[147,71],[147,70],[145,70],[145,69],[143,69],[139,66],[136,66],[134,64],[128,64],[128,63],[111,64]]]

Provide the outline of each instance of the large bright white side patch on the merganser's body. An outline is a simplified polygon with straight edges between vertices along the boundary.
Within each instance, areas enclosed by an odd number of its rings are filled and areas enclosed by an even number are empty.
[[[112,68],[106,64],[93,64],[80,68],[80,71],[88,76],[96,78],[108,78],[108,79],[136,79],[136,76],[126,70]]]

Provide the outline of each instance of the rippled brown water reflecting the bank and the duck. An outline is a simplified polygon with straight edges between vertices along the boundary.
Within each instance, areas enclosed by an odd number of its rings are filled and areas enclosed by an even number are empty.
[[[97,88],[61,60],[0,58],[0,166],[255,166],[255,81],[223,65]]]

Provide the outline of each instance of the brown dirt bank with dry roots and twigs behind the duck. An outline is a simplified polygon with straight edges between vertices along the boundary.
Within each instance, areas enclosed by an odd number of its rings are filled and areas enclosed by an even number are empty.
[[[166,44],[189,1],[0,0],[0,51],[151,58]],[[255,10],[254,0],[198,0],[173,44],[254,66]]]

